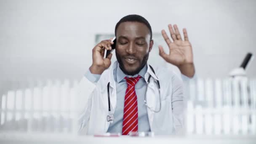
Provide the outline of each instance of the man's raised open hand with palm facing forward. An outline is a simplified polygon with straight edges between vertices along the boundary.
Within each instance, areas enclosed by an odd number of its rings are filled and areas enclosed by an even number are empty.
[[[176,66],[193,63],[192,46],[188,40],[186,29],[183,30],[185,40],[182,40],[177,26],[174,25],[174,28],[176,33],[174,33],[171,25],[169,25],[173,42],[171,42],[169,37],[166,35],[166,32],[164,30],[162,31],[165,42],[169,47],[169,54],[166,54],[163,51],[163,47],[159,46],[160,56],[162,56],[165,61]]]

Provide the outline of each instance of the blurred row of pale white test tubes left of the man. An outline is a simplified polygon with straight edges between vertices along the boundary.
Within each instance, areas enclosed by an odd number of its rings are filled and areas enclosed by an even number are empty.
[[[77,83],[76,80],[29,80],[21,88],[4,90],[0,131],[77,133]]]

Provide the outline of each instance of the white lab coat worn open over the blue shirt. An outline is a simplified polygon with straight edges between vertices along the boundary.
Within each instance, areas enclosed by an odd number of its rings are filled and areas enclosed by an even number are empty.
[[[116,86],[113,70],[117,67],[117,61],[105,70],[97,83],[91,83],[83,77],[78,85],[78,98],[80,102],[79,133],[99,134],[106,133],[110,122],[107,121],[108,95],[107,84],[110,82],[109,94],[111,112],[114,114],[117,102]],[[147,104],[153,109],[159,109],[159,92],[156,80],[160,82],[161,110],[153,112],[147,108],[149,125],[155,134],[175,134],[177,128],[183,123],[183,84],[182,80],[174,72],[165,68],[154,68],[155,74],[149,68],[145,74],[145,80],[151,75],[147,89]],[[174,84],[173,84],[174,83]],[[174,123],[175,122],[175,123]]]

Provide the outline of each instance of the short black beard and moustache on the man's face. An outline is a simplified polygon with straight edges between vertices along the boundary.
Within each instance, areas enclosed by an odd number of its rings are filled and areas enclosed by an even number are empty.
[[[143,69],[143,67],[147,64],[147,60],[148,60],[148,58],[149,58],[149,52],[148,52],[146,55],[144,55],[142,61],[140,62],[139,67],[138,67],[137,69],[135,69],[135,70],[129,72],[129,71],[127,71],[127,70],[125,69],[124,64],[123,64],[123,61],[122,61],[122,59],[121,59],[121,56],[117,53],[117,51],[115,51],[115,52],[116,52],[115,54],[116,54],[116,57],[117,57],[117,61],[118,61],[118,63],[119,63],[119,67],[120,67],[120,69],[123,71],[123,73],[125,73],[125,75],[131,75],[131,76],[133,76],[133,75],[138,74],[138,73],[141,71],[141,69]],[[127,56],[133,56],[133,57],[135,57],[134,55],[127,55]],[[124,56],[122,56],[122,57],[124,57]]]

